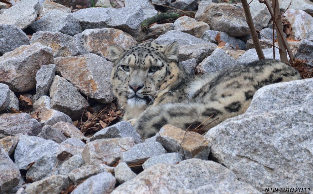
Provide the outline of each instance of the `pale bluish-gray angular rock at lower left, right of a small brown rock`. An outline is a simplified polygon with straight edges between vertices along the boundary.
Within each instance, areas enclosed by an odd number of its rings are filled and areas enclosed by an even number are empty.
[[[20,170],[26,170],[28,164],[38,163],[43,157],[55,157],[59,144],[40,137],[22,135],[15,148],[14,160]],[[40,163],[38,164],[40,165]]]

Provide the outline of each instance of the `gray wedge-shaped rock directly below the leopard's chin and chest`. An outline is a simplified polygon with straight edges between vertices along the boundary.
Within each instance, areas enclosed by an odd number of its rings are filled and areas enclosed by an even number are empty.
[[[95,135],[90,138],[90,141],[117,137],[131,137],[136,144],[142,142],[139,133],[137,133],[133,125],[126,121],[121,121],[115,125],[105,127],[104,129],[96,132]]]

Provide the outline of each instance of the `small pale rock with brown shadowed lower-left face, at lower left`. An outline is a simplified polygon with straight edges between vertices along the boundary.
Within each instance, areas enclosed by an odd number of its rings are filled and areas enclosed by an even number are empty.
[[[81,140],[75,137],[69,138],[60,144],[56,156],[60,161],[66,161],[74,155],[81,155],[84,148],[85,144]]]

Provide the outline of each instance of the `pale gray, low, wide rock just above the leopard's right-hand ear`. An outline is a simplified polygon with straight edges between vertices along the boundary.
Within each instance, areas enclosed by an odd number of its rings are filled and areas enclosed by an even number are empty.
[[[179,45],[191,45],[191,44],[205,44],[207,41],[194,37],[190,34],[181,32],[179,30],[171,30],[167,33],[156,38],[152,43],[158,44],[171,44],[177,41]]]

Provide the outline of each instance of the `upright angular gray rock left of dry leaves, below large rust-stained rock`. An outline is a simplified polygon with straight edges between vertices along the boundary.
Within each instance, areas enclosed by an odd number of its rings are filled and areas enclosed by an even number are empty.
[[[84,107],[89,104],[71,83],[56,75],[50,87],[51,108],[59,110],[71,119],[80,119]]]

